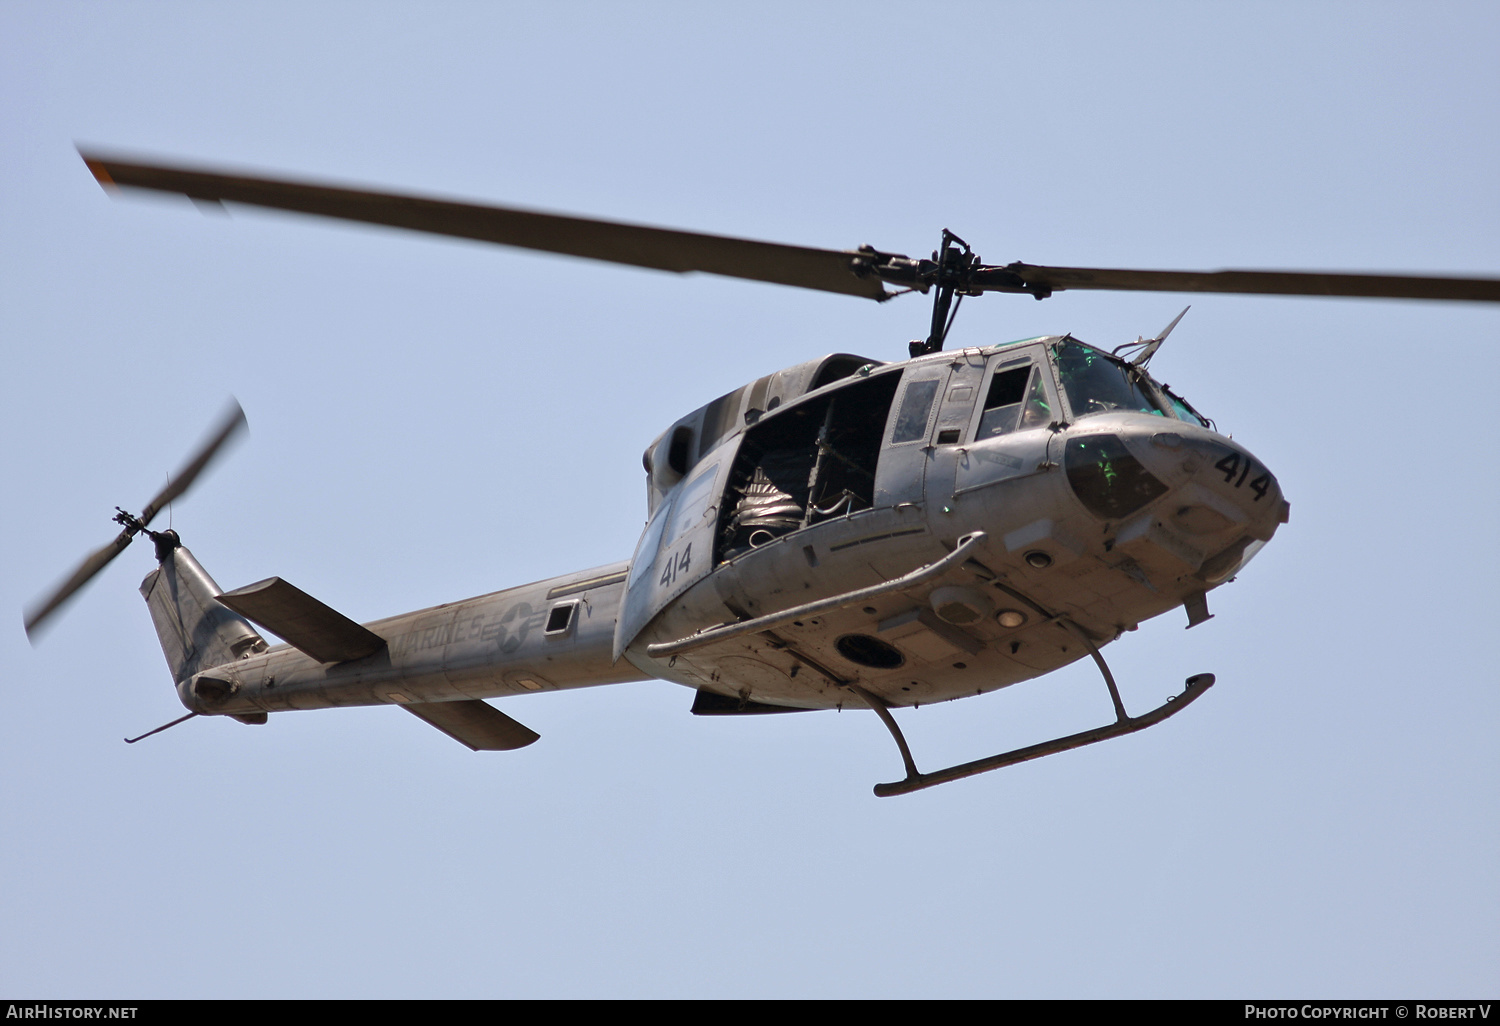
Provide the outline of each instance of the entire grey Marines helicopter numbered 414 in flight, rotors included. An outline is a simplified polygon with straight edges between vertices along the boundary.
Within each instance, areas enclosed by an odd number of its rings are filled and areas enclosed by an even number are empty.
[[[963,300],[1130,290],[1500,302],[1497,279],[992,266],[946,230],[930,258],[910,258],[82,158],[106,189],[876,302],[933,297],[928,334],[904,360],[824,356],[669,424],[644,453],[646,526],[632,558],[369,624],[279,578],[224,591],[176,531],[150,528],[243,430],[234,405],[171,483],[140,514],[117,508],[118,536],[26,614],[34,639],[138,536],[153,542],[141,592],[188,714],[132,744],[196,716],[254,724],[400,705],[472,750],[513,750],[538,735],[488,699],[658,678],[693,688],[699,716],[874,711],[906,771],[876,784],[888,796],[1137,732],[1215,678],[1190,676],[1130,716],[1101,650],[1179,608],[1188,627],[1209,620],[1208,594],[1290,520],[1290,502],[1270,468],[1152,376],[1182,314],[1114,351],[1071,334],[946,350]],[[1113,723],[916,768],[892,710],[1086,657]]]

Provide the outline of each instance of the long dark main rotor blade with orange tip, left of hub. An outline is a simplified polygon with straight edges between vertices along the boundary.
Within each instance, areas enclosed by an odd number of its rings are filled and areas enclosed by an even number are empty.
[[[852,261],[858,256],[854,252],[783,246],[392,192],[340,189],[285,178],[132,164],[98,153],[80,153],[80,156],[104,186],[176,192],[190,200],[248,202],[256,207],[477,238],[634,267],[678,273],[706,272],[873,300],[888,296],[878,278],[861,278],[854,272]]]

